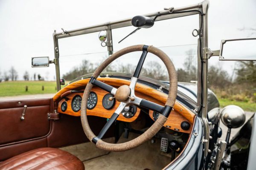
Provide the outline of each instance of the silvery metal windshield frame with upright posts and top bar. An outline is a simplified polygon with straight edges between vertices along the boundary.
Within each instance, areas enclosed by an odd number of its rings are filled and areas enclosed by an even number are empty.
[[[185,6],[181,8],[168,8],[164,11],[158,11],[150,14],[145,14],[144,16],[153,17],[157,16],[155,21],[160,20],[168,20],[177,17],[185,17],[189,15],[199,14],[199,27],[201,28],[201,32],[198,38],[198,108],[196,108],[196,112],[198,112],[198,116],[201,117],[202,122],[204,124],[204,138],[202,142],[204,142],[204,156],[206,157],[209,148],[209,122],[207,119],[207,96],[208,96],[208,80],[207,80],[207,72],[208,72],[208,24],[207,24],[207,13],[208,13],[209,1],[204,0],[201,3]],[[164,14],[164,15],[161,15]],[[125,20],[118,20],[108,23],[102,23],[95,26],[89,26],[85,28],[74,29],[70,31],[63,31],[56,33],[53,32],[53,40],[54,40],[54,54],[55,54],[55,70],[56,70],[56,82],[57,82],[57,90],[61,89],[60,85],[60,69],[59,69],[59,48],[58,48],[58,39],[73,37],[83,34],[89,34],[98,31],[107,31],[107,46],[108,46],[108,54],[113,54],[113,45],[112,45],[112,29],[122,28],[131,26],[131,19],[128,18]]]

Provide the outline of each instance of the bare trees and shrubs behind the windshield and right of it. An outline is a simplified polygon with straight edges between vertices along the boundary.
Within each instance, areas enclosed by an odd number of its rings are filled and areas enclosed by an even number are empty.
[[[197,57],[193,54],[193,50],[186,51],[187,57],[183,62],[184,68],[177,68],[179,82],[197,80]],[[81,65],[64,74],[63,78],[73,80],[84,74],[93,73],[98,66],[99,64],[83,60]],[[104,71],[134,73],[135,68],[136,65],[132,64],[112,63]],[[155,61],[145,63],[140,75],[157,80],[169,80],[166,67],[163,63]],[[221,65],[212,65],[208,68],[208,82],[209,88],[218,97],[236,101],[256,102],[256,62],[254,61],[237,62],[232,75],[224,71]]]

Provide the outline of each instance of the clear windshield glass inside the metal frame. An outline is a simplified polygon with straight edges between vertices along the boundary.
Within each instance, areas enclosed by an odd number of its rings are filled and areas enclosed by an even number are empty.
[[[142,28],[118,43],[134,29],[134,26],[112,29],[114,53],[131,45],[154,45],[170,57],[175,65],[178,81],[197,80],[198,37],[192,36],[192,30],[199,29],[198,15],[157,21],[153,27]],[[95,32],[59,39],[61,78],[71,81],[84,74],[93,73],[108,57],[108,49],[101,46],[98,36],[99,32]],[[138,51],[125,54],[111,63],[105,71],[133,74],[141,53]],[[169,80],[165,65],[153,54],[147,55],[140,75]]]

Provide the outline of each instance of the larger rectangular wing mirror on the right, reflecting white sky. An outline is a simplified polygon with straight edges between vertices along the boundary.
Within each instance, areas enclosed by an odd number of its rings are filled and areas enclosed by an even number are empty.
[[[256,60],[256,38],[221,40],[219,60]]]

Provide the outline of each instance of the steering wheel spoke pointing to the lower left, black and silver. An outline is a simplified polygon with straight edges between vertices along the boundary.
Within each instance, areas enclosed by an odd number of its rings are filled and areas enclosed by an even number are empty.
[[[121,102],[119,104],[119,106],[116,109],[116,111],[113,113],[111,118],[108,120],[108,122],[104,125],[104,127],[100,131],[99,135],[93,138],[92,141],[94,143],[97,143],[99,139],[102,139],[102,137],[105,135],[105,133],[107,133],[107,131],[111,127],[111,125],[116,121],[116,119],[118,118],[118,116],[121,113],[121,111],[125,108],[125,106],[126,106],[126,103],[124,103],[124,102]]]

